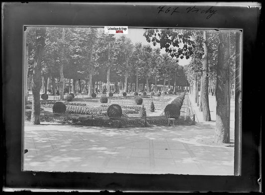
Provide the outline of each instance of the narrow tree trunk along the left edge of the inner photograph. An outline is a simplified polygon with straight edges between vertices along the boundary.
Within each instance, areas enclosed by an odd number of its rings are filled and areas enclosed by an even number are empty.
[[[28,100],[28,39],[27,39],[27,30],[24,31],[24,97],[25,105]]]

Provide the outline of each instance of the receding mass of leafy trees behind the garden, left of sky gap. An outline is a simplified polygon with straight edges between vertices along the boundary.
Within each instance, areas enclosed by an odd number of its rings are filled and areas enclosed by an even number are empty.
[[[29,77],[32,86],[33,108],[39,108],[39,88],[43,86],[47,93],[47,83],[51,79],[53,94],[55,80],[59,78],[61,99],[64,98],[65,80],[68,79],[73,88],[76,82],[88,82],[88,96],[91,96],[95,82],[123,83],[127,92],[128,83],[135,83],[136,92],[139,82],[146,86],[147,92],[154,84],[185,86],[184,69],[178,66],[177,59],[167,53],[162,54],[159,48],[153,49],[142,43],[133,44],[126,36],[115,38],[104,34],[101,28],[81,27],[28,27],[25,30],[25,77]],[[25,82],[27,85],[27,82]],[[25,90],[28,87],[25,86]],[[116,90],[118,87],[115,88]],[[73,89],[75,91],[75,89]],[[25,91],[27,96],[27,91]],[[32,112],[31,120],[39,124],[39,112]]]

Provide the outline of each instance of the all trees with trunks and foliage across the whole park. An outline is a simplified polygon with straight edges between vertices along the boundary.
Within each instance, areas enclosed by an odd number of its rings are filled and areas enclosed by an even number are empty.
[[[144,36],[150,45],[132,44],[125,36],[116,39],[97,28],[32,27],[25,34],[25,76],[32,74],[32,116],[34,124],[40,123],[39,92],[41,75],[60,77],[60,94],[64,94],[64,78],[87,80],[88,96],[92,92],[92,80],[110,82],[135,81],[138,91],[139,80],[144,81],[149,91],[150,83],[155,86],[163,80],[177,85],[179,72],[177,59],[192,58],[185,67],[190,92],[196,91],[201,83],[201,109],[204,120],[211,120],[208,91],[209,80],[216,94],[216,142],[229,142],[230,84],[234,82],[235,63],[239,61],[240,33],[228,30],[180,30],[146,29]],[[234,53],[233,53],[234,51]],[[27,67],[29,66],[29,67]],[[29,73],[27,73],[29,70]],[[232,75],[232,76],[231,76]],[[232,79],[231,79],[232,78]],[[232,81],[231,81],[232,80]],[[131,82],[132,83],[132,82]],[[27,89],[27,87],[25,87]],[[175,89],[175,88],[174,88]],[[155,88],[156,90],[156,88]]]

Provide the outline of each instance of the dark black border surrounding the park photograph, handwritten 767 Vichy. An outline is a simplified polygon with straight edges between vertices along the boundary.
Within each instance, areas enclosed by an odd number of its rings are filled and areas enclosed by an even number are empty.
[[[179,13],[158,13],[159,6],[179,7]],[[251,106],[258,96],[257,73],[259,34],[258,6],[215,6],[216,14],[186,12],[194,4],[176,3],[2,3],[2,102],[3,102],[3,186],[7,188],[45,188],[73,190],[120,190],[155,192],[258,192],[260,185],[261,111]],[[208,9],[209,4],[196,4]],[[240,176],[149,175],[104,173],[22,172],[23,125],[23,26],[129,26],[243,29],[241,163]],[[261,45],[260,45],[261,46]],[[262,54],[260,52],[260,54]],[[249,79],[249,77],[253,79]],[[254,86],[254,87],[253,87]],[[246,93],[245,93],[246,92]],[[239,92],[240,93],[240,92]],[[251,96],[252,95],[252,96]],[[237,98],[240,96],[237,96]],[[258,97],[259,98],[259,97]],[[240,105],[238,99],[237,105]],[[237,109],[238,108],[238,109]],[[236,109],[240,111],[240,106]],[[255,114],[253,114],[255,113]],[[251,121],[251,124],[249,122]],[[240,134],[240,127],[237,128]],[[235,139],[235,146],[240,140]],[[238,145],[239,146],[239,145]],[[237,147],[237,146],[236,146]],[[239,146],[240,148],[240,146]],[[240,156],[240,150],[235,156]],[[239,169],[236,170],[236,175]]]

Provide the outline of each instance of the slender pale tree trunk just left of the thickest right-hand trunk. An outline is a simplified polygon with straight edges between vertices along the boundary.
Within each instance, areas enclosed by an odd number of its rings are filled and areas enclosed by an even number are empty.
[[[208,73],[208,45],[207,45],[207,33],[203,31],[203,50],[204,55],[202,56],[202,78],[201,78],[201,103],[202,103],[202,117],[204,121],[211,120],[210,108],[209,108],[209,73]]]

